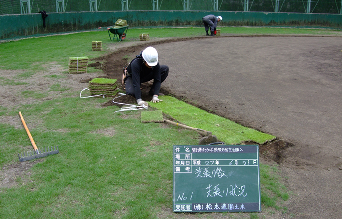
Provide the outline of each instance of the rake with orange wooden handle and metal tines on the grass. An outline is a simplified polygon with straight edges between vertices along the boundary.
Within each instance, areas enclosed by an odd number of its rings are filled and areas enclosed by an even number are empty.
[[[28,160],[32,160],[32,159],[36,159],[36,158],[46,157],[47,155],[58,154],[58,152],[59,152],[58,146],[57,146],[57,150],[56,150],[56,146],[54,146],[54,149],[52,149],[52,146],[50,148],[45,147],[45,151],[44,151],[44,148],[38,149],[36,146],[36,143],[34,142],[34,140],[32,138],[30,131],[27,128],[27,125],[25,123],[24,117],[22,117],[21,112],[19,112],[19,116],[21,118],[22,124],[25,127],[27,135],[28,135],[28,137],[32,143],[33,149],[34,149],[33,153],[32,153],[32,151],[27,151],[26,153],[24,152],[24,154],[22,154],[22,153],[18,154],[19,161],[28,161]]]

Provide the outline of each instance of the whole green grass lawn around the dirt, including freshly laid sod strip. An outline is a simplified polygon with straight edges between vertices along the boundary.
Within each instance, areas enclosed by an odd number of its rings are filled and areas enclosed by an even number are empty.
[[[220,29],[221,34],[341,34],[330,29]],[[126,40],[138,41],[140,33],[164,38],[196,37],[203,32],[203,28],[129,29]],[[102,41],[103,51],[91,51],[94,39]],[[61,83],[60,80],[69,77],[69,57],[99,57],[107,54],[108,44],[125,42],[111,42],[106,31],[93,31],[0,44],[0,86],[7,88],[13,98],[11,104],[0,106],[0,185],[14,172],[12,185],[0,186],[0,218],[221,217],[221,213],[172,212],[172,146],[196,145],[200,137],[197,132],[163,123],[142,123],[140,110],[114,113],[120,108],[101,107],[108,98],[80,99],[79,91],[74,92],[68,84]],[[59,66],[61,70],[52,71],[51,66]],[[94,68],[88,68],[88,72],[102,74]],[[38,86],[34,78],[41,77],[53,81],[49,89],[22,90],[25,86]],[[20,97],[30,101],[17,103],[15,99]],[[174,101],[174,106],[190,107],[189,113],[201,114],[201,119],[215,116],[173,97],[165,98]],[[149,110],[156,110],[151,105]],[[187,125],[196,127],[201,123],[162,106],[159,105],[159,110]],[[58,145],[59,154],[24,164],[18,161],[18,153],[32,149],[20,125],[19,111],[37,146]],[[228,144],[245,140],[262,144],[274,138],[221,117],[215,121],[220,126],[214,124],[213,133]],[[212,130],[213,126],[198,128]],[[234,138],[225,139],[226,126],[230,126],[229,136]],[[262,214],[271,217],[275,211],[286,212],[282,203],[289,192],[280,183],[277,166],[260,164],[260,176],[263,212],[222,213],[224,217],[262,218]]]

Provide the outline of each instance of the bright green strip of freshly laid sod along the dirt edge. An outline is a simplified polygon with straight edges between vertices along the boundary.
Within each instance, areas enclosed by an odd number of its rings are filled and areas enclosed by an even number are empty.
[[[263,144],[276,137],[241,126],[223,117],[210,114],[171,96],[159,96],[163,102],[149,105],[163,111],[187,126],[208,130],[216,135],[219,141],[226,144],[239,144],[241,142],[253,141]]]

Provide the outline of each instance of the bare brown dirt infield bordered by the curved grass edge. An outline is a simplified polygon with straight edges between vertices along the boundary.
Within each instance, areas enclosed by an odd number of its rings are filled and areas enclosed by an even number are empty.
[[[278,137],[260,151],[271,154],[263,159],[279,164],[293,192],[289,212],[279,217],[340,218],[341,40],[231,36],[148,42],[107,56],[104,71],[120,79],[124,55],[133,58],[154,46],[159,62],[170,67],[163,92]]]

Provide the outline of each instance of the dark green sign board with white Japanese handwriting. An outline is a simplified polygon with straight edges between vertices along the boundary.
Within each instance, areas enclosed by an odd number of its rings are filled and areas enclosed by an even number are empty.
[[[173,146],[173,211],[261,211],[259,146]]]

